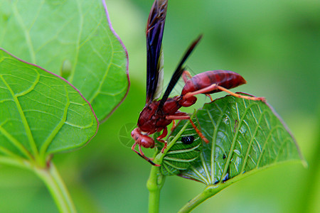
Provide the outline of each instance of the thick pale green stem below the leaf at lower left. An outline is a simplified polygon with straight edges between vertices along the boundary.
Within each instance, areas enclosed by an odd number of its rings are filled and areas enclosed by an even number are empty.
[[[34,171],[45,182],[60,212],[76,212],[67,187],[53,163],[48,168],[34,168]]]

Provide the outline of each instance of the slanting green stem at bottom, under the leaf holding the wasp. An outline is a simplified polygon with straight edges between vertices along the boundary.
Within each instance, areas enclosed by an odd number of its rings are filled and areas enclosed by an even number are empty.
[[[222,184],[222,185],[208,185],[203,192],[190,200],[186,205],[184,205],[178,212],[191,212],[192,209],[196,208],[199,204],[207,200],[208,198],[212,197],[213,195],[217,194],[225,187],[230,184]]]

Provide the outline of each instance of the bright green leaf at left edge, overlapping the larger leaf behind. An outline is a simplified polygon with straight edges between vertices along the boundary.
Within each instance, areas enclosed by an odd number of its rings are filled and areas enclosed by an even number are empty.
[[[0,49],[0,162],[78,148],[97,132],[89,102],[63,78]]]

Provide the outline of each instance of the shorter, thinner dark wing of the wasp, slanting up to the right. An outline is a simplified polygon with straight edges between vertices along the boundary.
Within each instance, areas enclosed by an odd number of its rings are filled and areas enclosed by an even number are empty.
[[[166,87],[166,92],[164,92],[164,97],[162,97],[157,111],[159,111],[160,109],[162,109],[162,107],[164,107],[164,102],[166,102],[166,99],[168,99],[170,92],[172,91],[172,89],[174,89],[174,86],[176,85],[176,82],[178,82],[179,78],[181,77],[183,70],[185,70],[184,67],[182,67],[183,63],[186,61],[186,59],[191,54],[192,50],[196,47],[196,45],[198,44],[199,40],[201,40],[201,38],[202,38],[202,35],[200,35],[196,40],[193,41],[193,43],[190,45],[190,47],[184,54],[183,58],[181,59],[178,67],[176,67],[176,71],[174,71],[174,75],[172,75],[169,85],[168,87]]]

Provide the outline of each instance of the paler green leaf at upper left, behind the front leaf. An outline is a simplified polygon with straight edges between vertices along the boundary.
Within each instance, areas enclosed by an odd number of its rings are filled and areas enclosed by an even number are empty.
[[[105,1],[1,1],[0,46],[68,77],[105,119],[129,89],[127,51]]]

